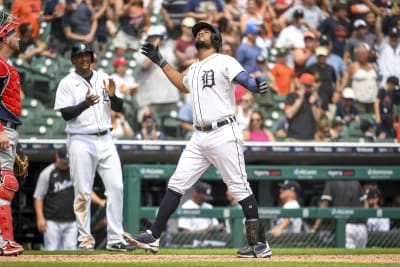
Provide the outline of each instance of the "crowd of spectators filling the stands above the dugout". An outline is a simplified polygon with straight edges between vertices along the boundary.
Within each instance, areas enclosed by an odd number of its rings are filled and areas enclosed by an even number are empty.
[[[395,1],[27,1],[2,1],[22,24],[21,50],[14,56],[27,64],[63,55],[68,61],[73,42],[89,42],[94,68],[110,74],[119,96],[132,104],[133,112],[115,114],[115,138],[190,137],[190,100],[138,50],[144,42],[158,45],[168,62],[185,72],[197,60],[191,33],[197,21],[217,26],[220,53],[236,57],[270,85],[270,94],[255,99],[236,88],[237,120],[247,141],[392,141],[399,135],[400,4]],[[49,36],[41,31],[43,23],[51,27]],[[107,52],[113,69],[97,64]],[[179,131],[164,134],[165,117],[175,118]],[[153,134],[143,133],[146,118],[158,122]],[[152,127],[156,122],[147,128]]]

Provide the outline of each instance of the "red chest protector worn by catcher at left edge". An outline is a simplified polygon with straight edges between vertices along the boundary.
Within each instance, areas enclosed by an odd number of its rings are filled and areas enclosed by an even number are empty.
[[[21,84],[15,68],[0,58],[1,105],[19,117],[21,115]]]

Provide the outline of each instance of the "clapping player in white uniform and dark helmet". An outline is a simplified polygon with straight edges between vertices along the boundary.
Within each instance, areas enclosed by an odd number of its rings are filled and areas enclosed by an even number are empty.
[[[110,107],[122,111],[122,99],[115,95],[115,82],[107,74],[90,69],[94,55],[89,44],[72,46],[75,71],[57,88],[55,110],[67,121],[67,150],[74,186],[74,212],[78,221],[78,242],[82,250],[93,250],[90,233],[90,201],[96,170],[107,195],[107,249],[128,251],[133,247],[122,238],[123,183],[121,162],[112,141]]]

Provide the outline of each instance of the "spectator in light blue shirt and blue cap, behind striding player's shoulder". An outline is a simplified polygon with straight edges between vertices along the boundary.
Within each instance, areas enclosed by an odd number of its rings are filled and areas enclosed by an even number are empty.
[[[236,51],[236,59],[243,65],[243,68],[249,73],[256,71],[256,60],[261,53],[261,48],[256,45],[257,36],[260,34],[260,29],[254,24],[246,26],[246,42],[239,45]]]

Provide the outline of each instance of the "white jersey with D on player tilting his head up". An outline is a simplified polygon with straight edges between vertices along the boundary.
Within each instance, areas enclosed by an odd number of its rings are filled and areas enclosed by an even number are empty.
[[[235,58],[217,53],[190,66],[183,83],[190,91],[195,125],[235,115],[236,84],[232,81],[242,71]]]

